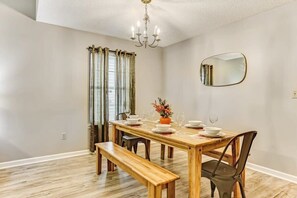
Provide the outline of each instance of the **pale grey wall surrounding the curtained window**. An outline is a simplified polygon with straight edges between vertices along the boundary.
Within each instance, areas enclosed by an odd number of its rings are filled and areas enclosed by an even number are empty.
[[[38,23],[1,3],[0,22],[0,162],[88,148],[92,44],[136,52],[137,110],[162,94],[162,49]]]

